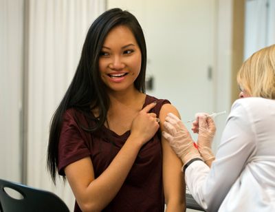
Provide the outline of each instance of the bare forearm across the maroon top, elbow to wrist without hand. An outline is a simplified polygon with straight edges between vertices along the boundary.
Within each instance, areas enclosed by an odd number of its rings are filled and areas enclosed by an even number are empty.
[[[79,182],[76,182],[78,179],[72,179],[74,182],[70,184],[82,211],[101,211],[113,200],[142,147],[135,139],[138,138],[129,136],[109,167],[98,178],[89,181],[86,179],[86,186],[79,188]],[[68,180],[72,181],[69,178]]]

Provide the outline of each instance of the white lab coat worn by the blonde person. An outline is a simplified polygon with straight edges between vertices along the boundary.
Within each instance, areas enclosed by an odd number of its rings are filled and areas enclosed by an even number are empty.
[[[185,179],[207,211],[275,211],[275,100],[236,100],[211,169],[197,160]]]

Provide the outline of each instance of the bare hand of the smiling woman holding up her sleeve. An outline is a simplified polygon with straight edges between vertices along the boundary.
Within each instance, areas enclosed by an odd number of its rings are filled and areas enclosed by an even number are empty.
[[[141,145],[144,145],[148,140],[153,138],[157,129],[159,129],[159,118],[157,118],[155,113],[149,113],[155,105],[156,103],[146,105],[133,119],[131,137],[141,140]]]

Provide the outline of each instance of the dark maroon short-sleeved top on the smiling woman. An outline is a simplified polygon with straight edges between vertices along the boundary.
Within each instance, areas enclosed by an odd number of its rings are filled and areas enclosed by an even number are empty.
[[[168,100],[158,100],[146,95],[143,107],[153,101],[157,101],[157,105],[151,112],[155,112],[157,117],[162,105],[170,103]],[[58,146],[58,173],[65,176],[64,168],[67,165],[90,156],[95,178],[98,178],[120,151],[130,131],[119,136],[102,126],[100,130],[89,133],[79,123],[88,127],[83,114],[76,109],[68,109],[64,115]],[[164,211],[162,143],[159,132],[140,149],[120,191],[102,211]],[[81,211],[77,202],[74,211]]]

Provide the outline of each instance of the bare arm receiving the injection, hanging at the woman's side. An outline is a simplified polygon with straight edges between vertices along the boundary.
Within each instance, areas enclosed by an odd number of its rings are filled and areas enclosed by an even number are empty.
[[[167,114],[171,112],[179,117],[177,109],[170,104],[165,104],[159,112],[159,124],[161,131],[164,131],[164,120]],[[168,141],[162,136],[163,151],[163,183],[164,195],[166,201],[166,212],[185,211],[186,210],[186,184],[184,182],[184,173],[181,171],[182,162],[177,157]]]

